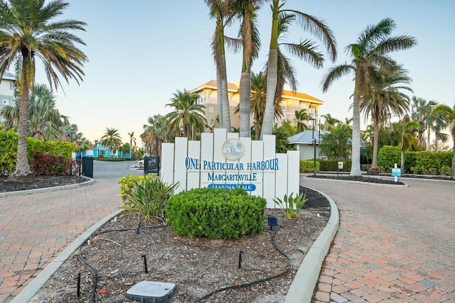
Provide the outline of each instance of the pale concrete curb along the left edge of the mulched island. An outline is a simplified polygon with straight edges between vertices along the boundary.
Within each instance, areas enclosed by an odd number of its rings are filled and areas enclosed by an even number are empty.
[[[98,221],[86,231],[84,231],[82,235],[78,236],[75,241],[70,243],[70,245],[65,248],[65,250],[63,250],[63,252],[59,253],[57,257],[50,264],[48,264],[42,272],[39,273],[39,275],[37,275],[21,292],[19,292],[18,295],[11,301],[11,303],[38,303],[38,301],[33,300],[33,296],[35,296],[38,290],[40,290],[45,282],[49,280],[50,276],[53,275],[53,273],[56,272],[68,258],[70,258],[70,255],[72,255],[77,250],[77,248],[79,248],[79,246],[81,246],[87,240],[87,238],[92,235],[92,233],[94,233],[98,228],[103,226],[114,216],[118,216],[122,211],[122,209],[114,211],[112,214],[105,216],[104,219]]]

